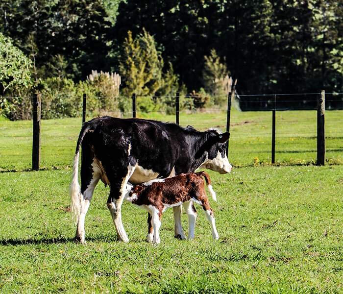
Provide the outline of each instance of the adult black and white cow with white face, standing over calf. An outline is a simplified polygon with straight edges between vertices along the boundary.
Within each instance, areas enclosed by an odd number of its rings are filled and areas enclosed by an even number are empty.
[[[214,129],[199,132],[191,126],[142,119],[102,117],[85,123],[76,145],[70,187],[71,209],[77,219],[75,240],[85,242],[85,216],[100,179],[110,185],[107,207],[117,239],[128,242],[121,213],[126,184],[194,172],[199,167],[231,172],[224,144],[228,138],[229,133],[220,134]],[[77,179],[80,147],[81,188]],[[181,209],[173,210],[175,236],[185,239]]]

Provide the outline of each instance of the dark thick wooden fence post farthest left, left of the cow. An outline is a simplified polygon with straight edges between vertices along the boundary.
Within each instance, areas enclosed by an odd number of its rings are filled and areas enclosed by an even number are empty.
[[[32,134],[32,170],[38,171],[41,161],[41,97],[37,94],[33,94],[33,134]]]

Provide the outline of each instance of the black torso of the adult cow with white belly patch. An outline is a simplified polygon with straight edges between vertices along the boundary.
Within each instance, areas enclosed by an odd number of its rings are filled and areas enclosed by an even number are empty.
[[[168,177],[175,171],[178,159],[189,149],[185,130],[174,123],[112,117],[88,123],[92,128],[84,142],[91,145],[105,172],[106,169],[125,169],[128,164],[136,166],[130,178],[133,184]]]

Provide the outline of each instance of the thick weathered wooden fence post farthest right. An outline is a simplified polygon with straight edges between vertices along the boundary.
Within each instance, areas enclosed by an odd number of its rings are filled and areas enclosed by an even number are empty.
[[[317,103],[317,165],[325,165],[325,91]]]

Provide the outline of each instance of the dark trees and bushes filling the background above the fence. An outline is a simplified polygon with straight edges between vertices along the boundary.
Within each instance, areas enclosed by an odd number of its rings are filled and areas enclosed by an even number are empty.
[[[54,95],[42,96],[46,116],[77,115],[79,101],[65,94],[108,94],[87,83],[92,70],[119,72],[122,96],[218,95],[216,80],[228,73],[241,94],[343,90],[343,5],[334,0],[4,0],[0,18],[1,38],[26,55],[19,70],[27,72],[27,57],[32,64],[30,81],[0,93],[11,119],[25,118],[23,97],[33,92]],[[16,66],[0,59],[7,71]],[[126,102],[114,105],[123,111]]]

